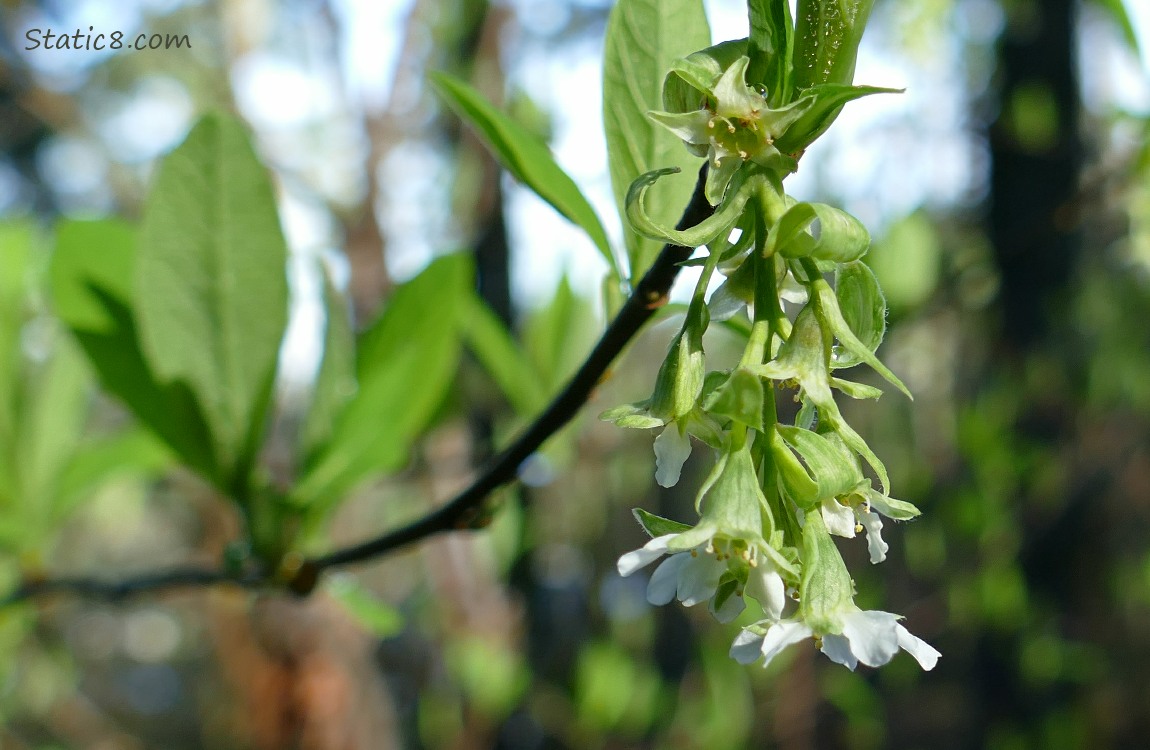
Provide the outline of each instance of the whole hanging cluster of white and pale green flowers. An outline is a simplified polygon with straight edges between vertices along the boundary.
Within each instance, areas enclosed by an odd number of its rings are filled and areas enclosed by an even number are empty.
[[[831,539],[865,534],[871,562],[877,564],[889,549],[883,519],[919,514],[890,497],[885,467],[843,419],[834,396],[881,395],[838,377],[859,363],[910,396],[874,353],[885,332],[885,301],[859,260],[869,235],[850,214],[796,201],[782,188],[843,104],[888,90],[834,82],[797,89],[777,70],[749,82],[754,54],[744,39],[681,60],[665,84],[667,109],[650,113],[707,159],[712,217],[682,231],[650,219],[645,193],[668,170],[639,177],[628,196],[637,231],[705,246],[706,255],[651,398],[603,419],[660,430],[656,479],[665,487],[678,482],[692,439],[715,462],[697,493],[695,526],[636,510],[652,538],[623,554],[619,572],[630,575],[660,560],[647,599],[706,603],[721,622],[753,599],[762,618],[735,638],[731,657],[741,663],[766,664],[788,645],[813,640],[851,669],[859,663],[881,666],[899,650],[930,669],[938,652],[898,615],[854,604],[854,583]],[[726,281],[707,300],[716,270]],[[788,315],[784,301],[802,307]],[[742,359],[729,370],[707,372],[703,335],[712,320],[735,315],[749,323]],[[800,408],[788,424],[779,420],[775,399],[791,390]]]

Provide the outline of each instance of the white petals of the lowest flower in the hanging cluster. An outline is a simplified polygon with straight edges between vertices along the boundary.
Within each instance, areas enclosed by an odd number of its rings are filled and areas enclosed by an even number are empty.
[[[770,623],[761,635],[753,629],[744,629],[731,644],[730,656],[739,664],[751,664],[764,657],[766,666],[787,646],[813,637],[821,641],[820,650],[831,661],[851,671],[860,661],[880,667],[890,661],[899,649],[914,657],[923,669],[933,669],[942,655],[912,635],[898,620],[897,614],[860,610],[851,604],[844,607],[841,615],[842,632],[838,634],[816,634],[803,620],[783,620]]]

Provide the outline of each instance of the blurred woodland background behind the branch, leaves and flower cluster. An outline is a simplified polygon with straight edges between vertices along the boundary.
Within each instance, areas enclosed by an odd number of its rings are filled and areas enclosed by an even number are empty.
[[[1150,736],[1150,84],[1138,0],[879,0],[852,105],[795,192],[872,227],[885,358],[915,393],[850,414],[925,515],[873,609],[942,652],[850,673],[650,607],[616,557],[653,485],[650,436],[593,415],[642,398],[672,331],[503,491],[492,526],[342,573],[306,602],[231,590],[0,612],[3,748],[1081,748]],[[606,0],[0,5],[0,576],[109,577],[221,559],[235,511],[94,388],[52,315],[57,222],[136,217],[195,115],[238,112],[274,170],[292,322],[271,447],[290,465],[324,326],[323,267],[362,328],[397,282],[474,253],[518,331],[522,392],[465,358],[398,474],[329,549],[448,497],[553,393],[603,323],[593,247],[501,178],[424,83],[446,69],[520,122],[610,215]],[[718,38],[741,3],[708,5]],[[743,24],[743,25],[741,25]],[[24,32],[187,35],[191,49],[25,51]],[[1141,52],[1141,56],[1140,56]],[[616,234],[618,237],[618,234]],[[611,292],[612,290],[608,290]],[[722,331],[708,352],[721,361]],[[853,406],[853,405],[852,405]],[[386,429],[386,415],[379,415]],[[698,458],[698,457],[696,457]],[[688,470],[705,470],[691,464]],[[682,482],[680,487],[691,487]]]

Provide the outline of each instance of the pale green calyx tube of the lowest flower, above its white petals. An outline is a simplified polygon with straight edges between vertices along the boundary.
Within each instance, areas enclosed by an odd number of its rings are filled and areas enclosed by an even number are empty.
[[[830,538],[822,512],[806,512],[803,525],[803,577],[799,583],[799,617],[818,635],[842,633],[839,612],[854,599],[854,582],[838,548]]]

